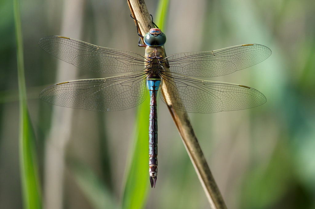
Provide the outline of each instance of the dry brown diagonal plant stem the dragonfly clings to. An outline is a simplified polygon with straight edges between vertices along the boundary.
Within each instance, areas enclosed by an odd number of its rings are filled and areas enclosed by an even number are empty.
[[[131,14],[138,20],[139,33],[142,35],[145,34],[153,27],[153,24],[144,1],[127,1]],[[161,91],[163,96],[167,97],[169,89],[162,88]],[[195,167],[211,208],[226,209],[226,205],[223,201],[219,188],[215,183],[214,177],[211,174],[210,168],[203,155],[194,130],[192,129],[187,113],[173,109],[172,104],[168,104],[168,109],[184,142],[192,164]]]

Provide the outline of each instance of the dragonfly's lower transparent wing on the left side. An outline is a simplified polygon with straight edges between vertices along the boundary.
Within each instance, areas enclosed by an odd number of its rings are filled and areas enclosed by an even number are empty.
[[[126,110],[147,95],[145,72],[109,78],[66,81],[45,88],[39,98],[50,104],[93,111]]]

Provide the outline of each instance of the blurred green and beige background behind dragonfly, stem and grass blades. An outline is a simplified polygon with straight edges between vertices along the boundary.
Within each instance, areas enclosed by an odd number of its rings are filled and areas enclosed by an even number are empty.
[[[157,1],[146,5],[154,17]],[[79,180],[82,170],[107,188],[98,200],[119,205],[134,146],[136,108],[92,112],[38,99],[56,82],[107,75],[63,63],[37,41],[62,35],[143,54],[127,2],[21,0],[20,8],[27,102],[45,208],[99,208],[91,201],[97,192],[87,192],[89,185]],[[253,87],[264,93],[266,104],[189,114],[227,207],[315,208],[315,1],[171,0],[165,24],[168,55],[249,43],[272,50],[256,66],[211,79]],[[10,0],[0,2],[0,39],[0,208],[18,209],[19,103]],[[147,185],[151,199],[144,208],[209,208],[169,112],[158,104],[159,173],[157,187]],[[105,201],[103,208],[113,208],[110,204]]]

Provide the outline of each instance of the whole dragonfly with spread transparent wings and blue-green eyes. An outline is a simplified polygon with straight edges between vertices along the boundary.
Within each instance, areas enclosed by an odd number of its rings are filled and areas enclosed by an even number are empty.
[[[137,27],[138,30],[138,27]],[[262,62],[271,50],[259,44],[243,44],[213,51],[165,55],[166,35],[151,28],[141,36],[145,55],[106,48],[64,36],[47,36],[39,46],[54,57],[80,69],[119,75],[65,81],[45,88],[39,98],[53,105],[93,111],[118,111],[140,105],[150,96],[149,177],[157,181],[157,92],[172,108],[192,113],[242,110],[266,102],[266,97],[244,85],[206,81],[198,77],[227,75]]]

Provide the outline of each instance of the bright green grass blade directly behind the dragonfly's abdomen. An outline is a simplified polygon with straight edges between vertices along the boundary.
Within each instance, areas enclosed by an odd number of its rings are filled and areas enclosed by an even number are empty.
[[[163,28],[168,9],[168,0],[160,1],[158,8],[157,14],[159,15],[157,15],[158,18],[155,21],[157,21],[158,27]],[[149,102],[150,97],[147,96],[147,99],[137,109],[134,150],[126,175],[122,208],[143,208],[148,195],[148,188],[150,188],[148,167]]]

